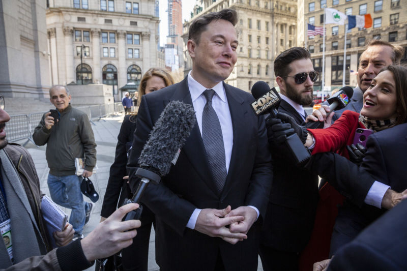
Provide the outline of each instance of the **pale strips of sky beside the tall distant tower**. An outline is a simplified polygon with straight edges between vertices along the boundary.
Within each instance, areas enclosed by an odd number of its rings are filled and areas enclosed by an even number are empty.
[[[160,45],[164,46],[168,35],[168,0],[160,1]],[[195,6],[195,0],[182,0],[182,22],[191,18],[191,11]]]

